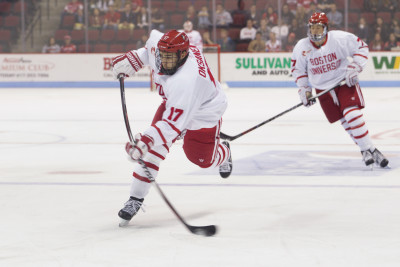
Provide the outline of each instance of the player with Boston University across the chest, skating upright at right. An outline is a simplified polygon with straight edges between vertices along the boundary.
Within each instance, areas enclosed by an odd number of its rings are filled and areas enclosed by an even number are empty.
[[[368,46],[360,38],[344,31],[328,31],[325,13],[316,12],[308,21],[308,37],[293,49],[292,75],[305,106],[315,103],[308,100],[312,97],[311,87],[319,93],[345,80],[345,85],[319,97],[322,110],[330,123],[341,122],[359,146],[367,166],[375,163],[386,167],[389,161],[373,145],[361,111],[365,103],[358,74],[368,54]]]

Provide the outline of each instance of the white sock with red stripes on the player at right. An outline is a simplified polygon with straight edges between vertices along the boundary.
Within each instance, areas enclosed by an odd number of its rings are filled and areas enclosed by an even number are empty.
[[[343,116],[348,124],[347,128],[350,128],[351,136],[354,138],[361,151],[368,149],[373,150],[374,147],[361,110],[355,106],[348,107],[343,111]]]

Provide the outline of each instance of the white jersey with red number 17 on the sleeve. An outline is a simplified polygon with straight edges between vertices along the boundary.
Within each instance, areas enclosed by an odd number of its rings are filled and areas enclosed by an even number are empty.
[[[133,51],[140,65],[151,67],[156,89],[166,101],[162,120],[144,132],[153,137],[154,145],[171,142],[186,129],[216,126],[227,108],[226,95],[199,48],[190,46],[185,64],[175,74],[158,73],[155,51],[162,36],[163,33],[153,30],[146,46]]]

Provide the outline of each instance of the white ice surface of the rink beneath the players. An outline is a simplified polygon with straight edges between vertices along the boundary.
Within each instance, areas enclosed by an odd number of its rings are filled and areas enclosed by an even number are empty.
[[[299,103],[294,88],[228,89],[236,135]],[[366,88],[364,116],[390,169],[370,171],[339,124],[300,107],[231,142],[233,173],[190,163],[175,144],[127,228],[132,163],[114,89],[0,90],[0,266],[399,266],[400,88]],[[161,98],[127,89],[133,132]]]

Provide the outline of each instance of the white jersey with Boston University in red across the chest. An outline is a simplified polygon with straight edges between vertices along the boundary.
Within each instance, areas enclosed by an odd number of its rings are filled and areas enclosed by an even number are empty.
[[[367,63],[368,45],[352,33],[329,31],[326,42],[316,47],[310,39],[301,39],[293,49],[292,75],[297,86],[329,89],[345,79],[349,58],[362,68]]]

